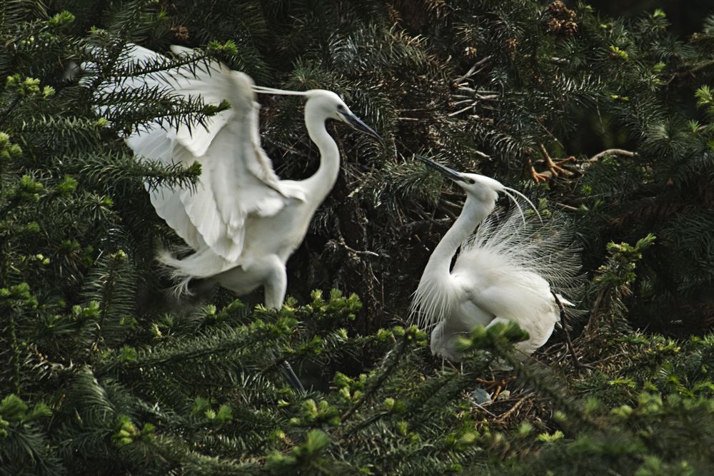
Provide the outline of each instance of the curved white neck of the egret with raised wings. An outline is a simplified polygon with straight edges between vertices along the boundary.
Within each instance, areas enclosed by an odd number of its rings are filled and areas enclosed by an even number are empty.
[[[305,124],[308,128],[308,136],[320,151],[320,167],[303,183],[311,191],[308,194],[308,201],[321,203],[332,190],[340,173],[340,151],[325,128],[325,117],[312,110],[309,100],[305,105]]]

